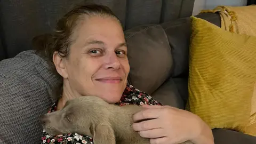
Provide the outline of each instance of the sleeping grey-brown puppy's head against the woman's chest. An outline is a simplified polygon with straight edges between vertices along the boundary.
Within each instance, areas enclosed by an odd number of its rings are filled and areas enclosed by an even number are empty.
[[[44,130],[52,135],[79,133],[93,137],[95,126],[108,123],[109,104],[98,97],[69,100],[59,111],[40,117]]]

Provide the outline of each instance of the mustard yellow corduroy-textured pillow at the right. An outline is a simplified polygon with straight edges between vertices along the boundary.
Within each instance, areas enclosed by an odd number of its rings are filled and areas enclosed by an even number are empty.
[[[256,82],[256,37],[196,17],[191,29],[186,109],[212,129],[246,133]]]

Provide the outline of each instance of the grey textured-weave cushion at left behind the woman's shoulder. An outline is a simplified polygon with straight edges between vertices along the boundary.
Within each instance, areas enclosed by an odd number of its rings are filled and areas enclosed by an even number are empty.
[[[33,51],[1,61],[0,69],[0,139],[40,143],[43,129],[38,117],[57,100],[49,95],[60,79]]]

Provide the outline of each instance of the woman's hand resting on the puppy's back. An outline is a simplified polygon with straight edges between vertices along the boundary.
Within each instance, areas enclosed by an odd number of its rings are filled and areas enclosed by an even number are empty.
[[[195,114],[170,106],[143,107],[144,110],[133,115],[132,127],[141,137],[149,138],[151,144],[177,144],[187,140],[195,144],[214,143],[210,127]]]

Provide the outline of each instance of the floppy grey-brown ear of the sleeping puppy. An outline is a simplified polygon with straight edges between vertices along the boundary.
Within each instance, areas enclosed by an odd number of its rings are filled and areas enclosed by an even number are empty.
[[[93,130],[93,142],[95,144],[116,144],[114,130],[110,125],[101,124]]]

